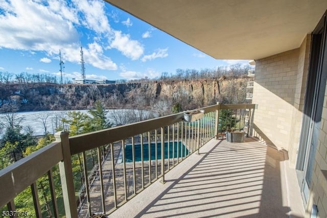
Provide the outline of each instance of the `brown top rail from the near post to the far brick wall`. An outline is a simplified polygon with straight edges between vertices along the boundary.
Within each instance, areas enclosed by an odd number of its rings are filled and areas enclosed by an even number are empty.
[[[204,113],[208,113],[217,109],[246,109],[254,107],[254,104],[217,104],[203,107],[201,109],[204,110]],[[183,120],[183,113],[184,112],[180,112],[172,115],[145,120],[142,122],[69,137],[71,154],[77,154],[83,151],[104,146],[105,144],[129,138],[137,134],[142,134],[144,132],[152,131],[160,127],[175,124]]]

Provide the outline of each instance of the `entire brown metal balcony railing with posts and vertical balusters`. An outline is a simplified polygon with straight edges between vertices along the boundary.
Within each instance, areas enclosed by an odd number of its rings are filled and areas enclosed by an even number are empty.
[[[15,197],[30,187],[35,211],[29,213],[42,217],[37,181],[46,175],[51,195],[47,203],[55,217],[59,217],[58,185],[66,217],[109,214],[154,181],[165,183],[170,169],[198,153],[219,132],[249,131],[252,126],[248,117],[254,112],[253,104],[218,103],[201,109],[203,117],[192,123],[185,122],[183,113],[177,113],[73,137],[67,132],[57,133],[55,142],[0,171],[0,206],[16,210]],[[75,191],[78,181],[73,174],[77,160],[82,173],[79,191]],[[57,164],[61,184],[54,183],[53,168]]]

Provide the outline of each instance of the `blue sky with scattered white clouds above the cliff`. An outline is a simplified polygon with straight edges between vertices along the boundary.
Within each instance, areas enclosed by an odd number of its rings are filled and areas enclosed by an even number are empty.
[[[0,71],[81,79],[160,77],[176,69],[247,64],[216,60],[102,0],[0,0]]]

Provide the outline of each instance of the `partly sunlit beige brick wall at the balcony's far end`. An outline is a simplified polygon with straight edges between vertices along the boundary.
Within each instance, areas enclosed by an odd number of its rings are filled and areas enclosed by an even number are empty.
[[[289,152],[296,162],[306,90],[311,37],[298,49],[255,61],[255,129],[262,138]]]

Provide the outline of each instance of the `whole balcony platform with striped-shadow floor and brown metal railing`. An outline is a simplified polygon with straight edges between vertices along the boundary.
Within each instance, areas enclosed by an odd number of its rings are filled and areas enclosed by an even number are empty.
[[[30,187],[35,211],[29,213],[42,217],[37,180],[45,175],[54,217],[60,217],[58,185],[66,217],[301,215],[302,205],[287,200],[300,197],[287,183],[295,172],[287,172],[286,152],[257,138],[216,139],[225,129],[252,128],[245,120],[254,108],[217,104],[202,108],[203,117],[192,123],[177,113],[69,138],[57,133],[55,142],[0,171],[0,205],[15,210],[14,198]],[[93,166],[91,152],[97,154]],[[76,155],[83,173],[77,192]],[[57,164],[61,185],[54,183]]]

